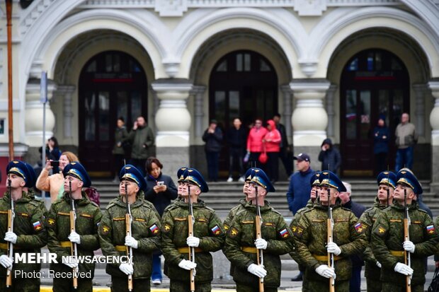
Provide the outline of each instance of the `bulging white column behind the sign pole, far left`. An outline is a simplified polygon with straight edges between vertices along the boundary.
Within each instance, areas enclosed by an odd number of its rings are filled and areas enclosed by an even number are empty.
[[[47,98],[52,98],[56,85],[53,82],[47,84]],[[25,103],[25,135],[26,144],[30,147],[40,147],[42,144],[42,116],[43,105],[40,101],[40,79],[31,78],[26,86]],[[55,115],[50,110],[50,105],[46,103],[45,136],[49,139],[53,136],[55,127]]]

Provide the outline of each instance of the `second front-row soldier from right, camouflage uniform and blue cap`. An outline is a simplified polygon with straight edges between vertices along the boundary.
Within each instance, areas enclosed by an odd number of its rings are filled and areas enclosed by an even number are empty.
[[[358,218],[340,205],[338,195],[346,192],[341,180],[330,171],[320,174],[319,203],[304,211],[293,226],[300,261],[307,267],[304,287],[307,291],[329,291],[329,278],[336,278],[335,291],[349,291],[352,274],[351,255],[360,255],[366,245],[365,235],[358,229]],[[327,243],[328,204],[332,207],[333,242]],[[328,267],[328,253],[334,266]]]

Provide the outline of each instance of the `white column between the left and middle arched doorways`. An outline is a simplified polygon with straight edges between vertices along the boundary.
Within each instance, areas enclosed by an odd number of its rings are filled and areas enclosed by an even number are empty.
[[[192,84],[186,79],[159,79],[152,83],[160,100],[156,112],[156,155],[166,173],[173,176],[179,167],[189,165],[190,113],[186,102]]]

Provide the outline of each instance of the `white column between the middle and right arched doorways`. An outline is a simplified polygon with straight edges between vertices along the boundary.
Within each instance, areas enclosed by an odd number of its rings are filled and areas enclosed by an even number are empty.
[[[322,79],[301,79],[292,81],[296,102],[292,112],[294,146],[320,146],[326,138],[328,115],[323,106],[329,81]]]

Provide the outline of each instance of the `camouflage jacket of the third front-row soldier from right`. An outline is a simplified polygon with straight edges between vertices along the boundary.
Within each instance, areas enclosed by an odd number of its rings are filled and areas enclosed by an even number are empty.
[[[262,238],[268,243],[263,250],[263,264],[267,270],[264,283],[268,287],[280,286],[280,255],[285,255],[292,250],[292,236],[290,228],[285,223],[283,216],[271,206],[261,206]],[[236,283],[253,285],[257,284],[258,277],[250,274],[247,267],[257,263],[256,247],[256,206],[248,202],[244,209],[236,213],[232,225],[227,231],[224,253],[234,269],[233,279]]]

